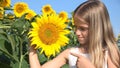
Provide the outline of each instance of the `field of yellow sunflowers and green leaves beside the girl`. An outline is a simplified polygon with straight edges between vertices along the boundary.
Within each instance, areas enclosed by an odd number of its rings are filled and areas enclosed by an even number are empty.
[[[40,10],[37,14],[27,3],[0,0],[0,68],[29,68],[30,42],[41,64],[79,44],[67,12],[56,12],[49,4]]]

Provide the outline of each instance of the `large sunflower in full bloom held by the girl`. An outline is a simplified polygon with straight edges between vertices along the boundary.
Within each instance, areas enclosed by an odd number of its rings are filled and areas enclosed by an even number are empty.
[[[60,52],[60,48],[69,42],[66,36],[69,30],[66,30],[65,21],[62,21],[57,14],[43,14],[40,18],[36,18],[36,22],[32,22],[33,28],[29,32],[31,45],[36,44],[35,48],[41,48],[41,53],[49,58]]]

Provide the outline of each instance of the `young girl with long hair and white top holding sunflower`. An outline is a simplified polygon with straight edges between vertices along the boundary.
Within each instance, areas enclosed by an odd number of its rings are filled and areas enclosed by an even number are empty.
[[[79,5],[73,14],[75,34],[80,47],[69,48],[51,61],[40,65],[36,50],[30,47],[31,68],[120,68],[120,52],[105,5],[89,0]]]

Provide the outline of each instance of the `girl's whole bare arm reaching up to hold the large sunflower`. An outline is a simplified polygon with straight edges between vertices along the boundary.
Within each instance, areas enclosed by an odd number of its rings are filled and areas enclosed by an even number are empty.
[[[43,65],[40,65],[36,50],[33,47],[30,47],[30,52],[29,52],[30,68],[60,68],[64,64],[66,64],[68,54],[69,54],[69,49],[66,49],[53,60],[50,60]]]

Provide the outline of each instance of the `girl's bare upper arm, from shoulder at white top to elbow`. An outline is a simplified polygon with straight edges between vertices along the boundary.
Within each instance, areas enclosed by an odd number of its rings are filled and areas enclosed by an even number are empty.
[[[56,58],[53,60],[45,63],[42,67],[43,68],[60,68],[64,64],[66,64],[68,59],[69,49],[66,49],[62,53],[60,53]]]

